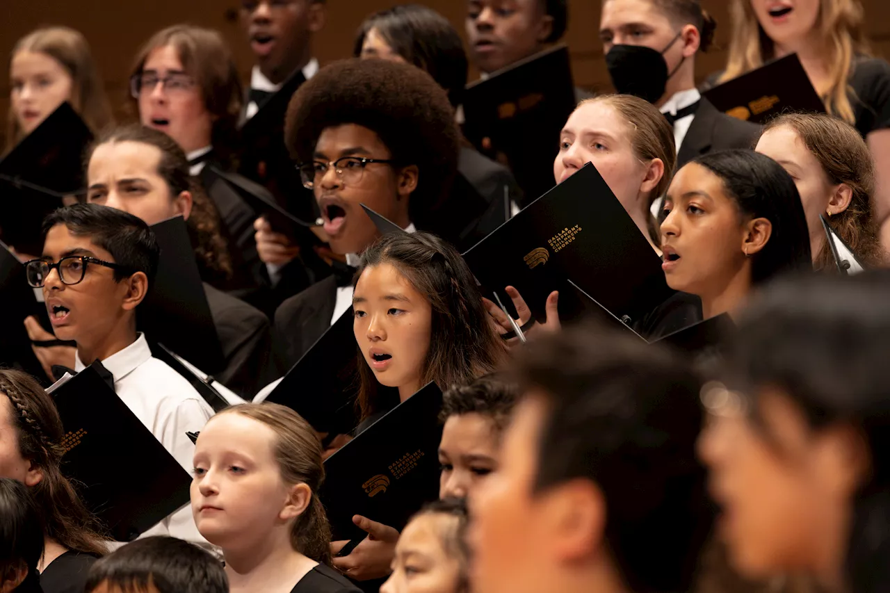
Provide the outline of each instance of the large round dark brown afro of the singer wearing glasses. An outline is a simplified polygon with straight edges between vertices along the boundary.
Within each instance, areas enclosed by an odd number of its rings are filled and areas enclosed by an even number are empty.
[[[297,162],[311,161],[321,133],[345,124],[367,127],[397,164],[417,166],[412,220],[448,196],[460,136],[448,95],[425,71],[377,59],[328,65],[291,99],[285,144]]]

